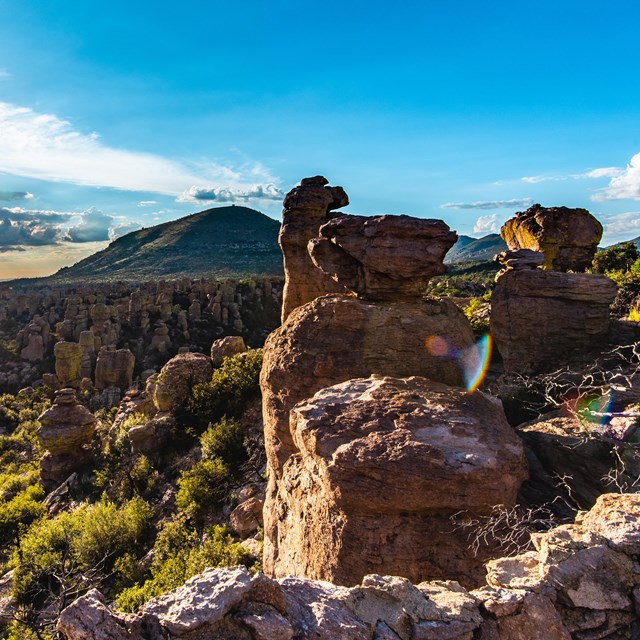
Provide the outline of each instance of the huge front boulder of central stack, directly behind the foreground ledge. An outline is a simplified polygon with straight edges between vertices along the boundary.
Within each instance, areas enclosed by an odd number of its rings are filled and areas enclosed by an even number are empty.
[[[482,582],[483,558],[450,517],[513,506],[527,477],[499,402],[425,378],[372,376],[297,404],[291,431],[299,453],[283,469],[266,571],[346,585],[372,567],[413,582]]]

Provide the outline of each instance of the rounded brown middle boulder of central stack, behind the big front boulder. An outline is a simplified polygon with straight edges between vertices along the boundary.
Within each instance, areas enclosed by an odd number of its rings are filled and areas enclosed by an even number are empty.
[[[469,321],[446,299],[377,305],[334,295],[299,307],[265,343],[260,384],[271,468],[278,475],[296,450],[289,429],[296,403],[373,373],[464,385],[461,360],[471,348]]]

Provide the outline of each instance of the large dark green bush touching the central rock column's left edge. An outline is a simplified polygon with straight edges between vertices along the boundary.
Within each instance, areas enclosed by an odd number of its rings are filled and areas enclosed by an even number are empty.
[[[197,384],[187,403],[187,420],[199,430],[223,416],[242,414],[248,400],[260,393],[262,349],[225,358],[211,382]]]

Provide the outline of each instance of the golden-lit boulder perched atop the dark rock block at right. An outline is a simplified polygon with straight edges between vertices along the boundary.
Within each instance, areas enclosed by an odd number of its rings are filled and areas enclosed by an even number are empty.
[[[602,225],[586,209],[534,204],[507,220],[500,235],[509,249],[541,251],[545,269],[584,271],[598,249]]]

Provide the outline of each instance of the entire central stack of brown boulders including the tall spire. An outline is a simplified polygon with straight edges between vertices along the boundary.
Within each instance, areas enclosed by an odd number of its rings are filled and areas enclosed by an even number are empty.
[[[359,384],[365,384],[356,379],[372,374],[422,376],[458,387],[465,384],[464,361],[475,353],[469,321],[450,301],[421,297],[429,277],[444,271],[442,260],[456,235],[440,221],[407,216],[334,215],[327,220],[335,191],[325,185],[324,178],[303,180],[301,186],[285,198],[285,224],[280,236],[286,265],[285,320],[267,340],[261,374],[269,463],[264,508],[265,571],[274,576],[294,574],[356,584],[373,567],[376,570],[383,567],[384,571],[418,581],[443,577],[448,570],[448,575],[465,575],[472,583],[480,578],[480,560],[462,551],[461,538],[465,534],[452,533],[448,517],[454,511],[471,506],[483,512],[487,505],[498,502],[513,504],[517,487],[526,475],[522,450],[513,440],[501,408],[485,407],[486,412],[495,414],[494,419],[489,420],[491,427],[482,421],[474,424],[481,433],[479,437],[493,443],[487,445],[488,449],[494,447],[493,453],[483,454],[485,462],[491,466],[496,457],[504,457],[504,466],[496,463],[493,467],[498,476],[503,476],[503,484],[500,489],[487,491],[482,496],[471,492],[467,501],[456,488],[455,473],[444,471],[448,463],[444,462],[442,447],[427,445],[421,436],[414,439],[410,429],[390,429],[389,420],[393,420],[380,405],[375,405],[377,413],[369,415],[360,425],[347,426],[353,419],[348,403],[334,398],[335,401],[328,401],[325,406],[322,400],[323,393],[335,392],[340,396],[342,387],[333,385],[345,383],[345,388],[355,385],[351,391],[344,391],[345,397],[353,401],[366,396],[373,402],[370,397],[375,395],[373,391],[367,395],[368,392],[356,390]],[[340,190],[339,194],[346,203],[344,192]],[[301,202],[305,206],[311,203],[313,207],[311,204],[308,208],[298,206]],[[297,226],[293,230],[287,228],[287,220],[292,224],[295,221]],[[290,235],[295,239],[291,244],[288,243]],[[327,294],[323,273],[331,275],[330,286],[338,285],[348,293]],[[414,385],[416,397],[423,397],[418,389],[424,391],[425,385],[430,384],[422,378],[420,382],[416,382],[417,378],[412,379],[413,383],[407,382]],[[388,396],[381,401],[396,409],[396,417],[409,406],[409,413],[424,406],[418,400],[417,404],[411,404],[408,394],[399,390],[403,384],[402,380],[388,381],[385,387]],[[459,388],[443,389],[450,391],[452,401],[463,394]],[[434,393],[446,395],[444,390]],[[443,437],[455,442],[453,446],[462,448],[463,457],[468,454],[474,459],[473,463],[471,458],[466,463],[469,472],[472,473],[474,465],[480,469],[484,464],[482,456],[474,458],[478,451],[477,438],[461,435],[466,432],[455,419],[447,421],[444,416],[448,409],[444,406],[449,405],[438,397],[443,414],[441,421],[435,414],[429,414],[416,431],[423,429],[427,433],[426,423],[431,421],[432,437],[435,433],[446,434]],[[318,433],[314,431],[316,435],[310,437],[309,442],[302,436],[306,431],[302,427],[302,431],[298,429],[298,411],[305,401],[310,403],[311,414],[319,416],[326,409],[336,419],[335,424],[329,417],[323,422],[323,429],[341,433],[341,446],[333,453],[328,444],[330,438],[323,439],[322,429]],[[476,402],[482,404],[480,399]],[[485,399],[485,402],[488,401]],[[363,415],[366,404],[358,405]],[[465,420],[471,418],[468,415],[461,418],[462,422]],[[496,433],[492,431],[494,428],[503,430],[501,436],[490,435]],[[377,435],[362,444],[357,435],[360,429],[370,429]],[[507,449],[513,442],[516,450],[498,453],[496,439]],[[359,444],[362,447],[359,448]],[[343,461],[342,466],[336,463],[338,451],[348,452],[351,458]],[[427,459],[422,465],[417,464],[415,456],[419,454],[416,452],[428,455],[429,460],[433,457],[433,464],[442,476],[437,475]],[[363,456],[362,460],[359,456]],[[371,480],[372,484],[362,479],[358,485],[354,476],[358,470],[367,473],[363,462],[367,458],[376,458],[378,463],[386,460],[382,464],[384,473],[377,476],[377,481]],[[372,476],[375,476],[374,466],[368,467]],[[407,468],[412,469],[410,475],[414,476],[413,489],[408,492]],[[336,471],[334,475],[333,471]],[[416,487],[427,487],[429,478],[433,477],[441,478],[438,492],[452,496],[452,502],[437,503],[424,495],[414,496],[420,492]],[[376,496],[381,493],[389,496],[384,509],[381,508],[383,497],[376,500],[369,496],[371,509],[364,506],[363,495],[372,491],[374,485]],[[350,494],[354,496],[353,501],[347,497]],[[397,509],[391,506],[394,500]],[[447,550],[438,557],[441,545]],[[385,547],[388,547],[386,556]],[[413,557],[418,549],[418,557]]]

